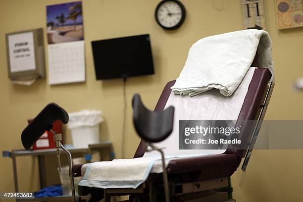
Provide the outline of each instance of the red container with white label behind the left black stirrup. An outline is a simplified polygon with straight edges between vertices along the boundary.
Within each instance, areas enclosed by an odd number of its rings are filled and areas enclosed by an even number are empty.
[[[28,123],[30,123],[32,119],[28,119]],[[62,133],[62,122],[55,121],[52,124],[52,130],[56,133]],[[53,149],[56,148],[55,142],[53,141],[53,133],[50,131],[46,131],[39,140],[33,145],[33,150],[45,150],[45,149]]]

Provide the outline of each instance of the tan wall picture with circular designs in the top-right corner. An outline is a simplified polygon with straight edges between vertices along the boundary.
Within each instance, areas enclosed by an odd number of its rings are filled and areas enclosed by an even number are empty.
[[[303,27],[303,0],[275,0],[277,27]]]

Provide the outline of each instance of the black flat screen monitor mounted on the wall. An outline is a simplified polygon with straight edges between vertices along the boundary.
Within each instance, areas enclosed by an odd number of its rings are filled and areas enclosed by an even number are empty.
[[[92,42],[97,80],[153,74],[150,35]]]

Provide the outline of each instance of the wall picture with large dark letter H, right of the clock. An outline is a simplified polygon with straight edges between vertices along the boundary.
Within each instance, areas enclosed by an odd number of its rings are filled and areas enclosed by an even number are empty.
[[[242,21],[245,29],[265,30],[263,0],[241,0]]]

